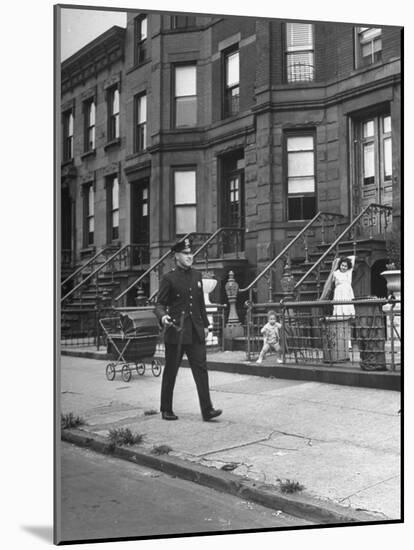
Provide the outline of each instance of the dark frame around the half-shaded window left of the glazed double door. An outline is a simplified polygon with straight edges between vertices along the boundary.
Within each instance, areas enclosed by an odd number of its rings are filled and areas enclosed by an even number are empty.
[[[310,192],[301,192],[301,193],[289,193],[289,150],[288,150],[288,141],[289,138],[295,138],[295,137],[311,137],[313,140],[313,148],[312,149],[304,149],[303,151],[292,151],[291,153],[299,153],[299,152],[307,152],[312,151],[313,153],[313,180],[314,180],[314,191],[312,193]],[[295,131],[288,131],[284,134],[284,167],[285,167],[285,193],[286,193],[286,202],[285,202],[285,212],[286,212],[286,221],[291,223],[300,223],[300,222],[306,222],[308,220],[311,220],[316,212],[318,207],[318,194],[317,194],[317,142],[316,142],[316,132],[314,129],[303,129],[303,130],[295,130]],[[297,176],[296,176],[297,177]],[[309,176],[299,176],[299,177],[309,177]],[[304,199],[306,198],[314,198],[314,205],[313,205],[313,214],[306,218],[303,216],[304,214]],[[289,206],[289,199],[290,198],[299,198],[301,199],[301,218],[291,218],[290,217],[290,206]]]

